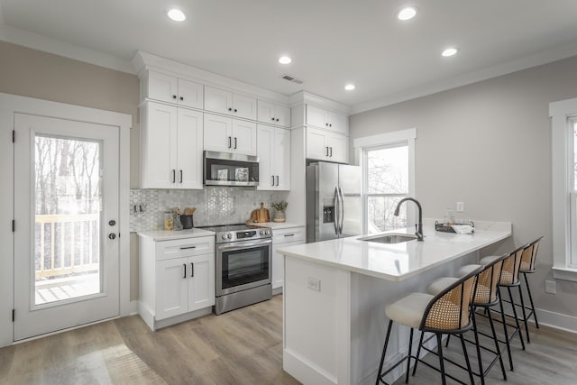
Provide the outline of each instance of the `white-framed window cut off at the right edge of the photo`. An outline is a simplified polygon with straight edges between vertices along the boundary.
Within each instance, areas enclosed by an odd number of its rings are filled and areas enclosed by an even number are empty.
[[[577,98],[549,105],[554,278],[577,280]]]

